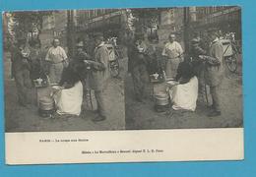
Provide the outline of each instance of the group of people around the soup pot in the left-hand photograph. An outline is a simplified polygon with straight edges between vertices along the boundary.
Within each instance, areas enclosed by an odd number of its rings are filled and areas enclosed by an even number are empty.
[[[93,54],[90,55],[84,42],[79,41],[73,58],[67,56],[57,38],[52,40],[52,46],[45,55],[38,39],[32,40],[30,45],[26,38],[18,39],[11,51],[11,60],[19,104],[27,107],[30,103],[28,90],[34,87],[34,80],[47,79],[47,87],[52,89],[48,96],[54,99],[58,115],[80,115],[84,95],[94,90],[97,116],[93,120],[105,120],[103,91],[109,79],[108,51],[102,33],[95,33],[94,39]]]

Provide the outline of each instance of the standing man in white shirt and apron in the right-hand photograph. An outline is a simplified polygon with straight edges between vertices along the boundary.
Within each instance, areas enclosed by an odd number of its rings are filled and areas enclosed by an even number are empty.
[[[175,79],[178,65],[183,61],[183,49],[175,40],[175,34],[170,33],[169,41],[165,44],[161,53],[166,59],[165,75],[167,79]]]

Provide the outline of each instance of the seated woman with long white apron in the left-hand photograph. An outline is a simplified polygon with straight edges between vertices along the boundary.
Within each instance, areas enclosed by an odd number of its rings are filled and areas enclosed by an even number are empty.
[[[72,65],[64,69],[60,87],[53,94],[57,113],[79,116],[83,102],[83,85]]]

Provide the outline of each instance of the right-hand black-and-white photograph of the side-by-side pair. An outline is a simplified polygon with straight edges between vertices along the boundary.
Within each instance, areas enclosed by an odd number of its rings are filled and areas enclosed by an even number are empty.
[[[241,128],[241,9],[132,9],[127,130]]]

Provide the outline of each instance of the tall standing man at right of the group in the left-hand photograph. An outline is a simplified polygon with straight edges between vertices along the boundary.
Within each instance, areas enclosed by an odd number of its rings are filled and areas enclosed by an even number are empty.
[[[108,51],[103,41],[103,34],[96,33],[95,35],[95,58],[94,60],[84,60],[86,65],[90,65],[91,72],[89,73],[89,85],[95,90],[97,117],[93,121],[103,121],[106,119],[105,100],[103,91],[107,87],[109,79],[108,71]]]

